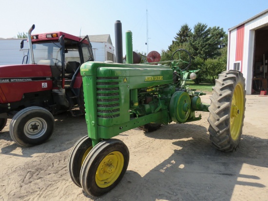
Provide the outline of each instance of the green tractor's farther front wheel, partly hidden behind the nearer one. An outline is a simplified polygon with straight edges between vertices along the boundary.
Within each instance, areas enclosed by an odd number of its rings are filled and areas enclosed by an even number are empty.
[[[92,140],[85,136],[73,146],[68,158],[68,172],[72,181],[79,187],[82,187],[80,183],[80,170],[91,149]]]

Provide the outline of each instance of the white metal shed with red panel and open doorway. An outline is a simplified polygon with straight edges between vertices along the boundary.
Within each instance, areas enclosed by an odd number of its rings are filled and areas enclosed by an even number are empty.
[[[228,30],[227,69],[239,70],[247,94],[267,90],[268,9]]]

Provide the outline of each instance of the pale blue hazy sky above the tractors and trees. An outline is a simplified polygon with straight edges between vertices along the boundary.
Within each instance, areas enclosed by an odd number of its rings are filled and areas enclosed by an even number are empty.
[[[5,0],[0,2],[0,38],[62,31],[75,36],[110,34],[115,21],[133,33],[133,50],[167,50],[181,26],[198,22],[228,29],[268,9],[268,0]],[[148,25],[147,25],[148,22]]]

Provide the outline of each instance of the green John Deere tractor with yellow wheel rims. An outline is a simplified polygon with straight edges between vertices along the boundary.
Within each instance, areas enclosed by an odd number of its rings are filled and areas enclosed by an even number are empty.
[[[198,121],[201,115],[195,117],[195,111],[205,111],[210,112],[210,139],[217,149],[234,151],[242,134],[246,99],[241,72],[222,72],[207,105],[201,102],[202,92],[185,86],[196,72],[181,69],[184,60],[132,64],[130,31],[126,40],[126,64],[89,61],[80,68],[88,136],[72,148],[68,171],[72,181],[92,196],[113,189],[127,170],[127,146],[111,139],[124,131],[136,127],[153,131],[172,121]]]

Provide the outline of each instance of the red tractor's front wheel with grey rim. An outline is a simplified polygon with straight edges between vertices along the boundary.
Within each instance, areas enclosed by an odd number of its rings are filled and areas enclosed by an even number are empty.
[[[34,146],[48,140],[53,133],[53,115],[42,107],[26,107],[11,120],[9,133],[20,146]]]

